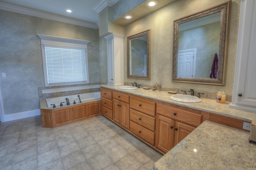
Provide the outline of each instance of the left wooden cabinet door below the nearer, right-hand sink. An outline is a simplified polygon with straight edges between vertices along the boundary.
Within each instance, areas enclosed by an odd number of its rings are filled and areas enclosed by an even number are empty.
[[[168,152],[174,146],[175,121],[156,115],[156,147]]]

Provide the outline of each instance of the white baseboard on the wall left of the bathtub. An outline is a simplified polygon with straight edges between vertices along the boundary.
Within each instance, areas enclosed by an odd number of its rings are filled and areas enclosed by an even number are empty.
[[[4,120],[2,120],[2,122],[14,121],[17,119],[23,119],[23,118],[38,116],[38,115],[41,115],[40,109],[36,109],[33,111],[25,111],[20,113],[13,113],[10,115],[4,115]]]

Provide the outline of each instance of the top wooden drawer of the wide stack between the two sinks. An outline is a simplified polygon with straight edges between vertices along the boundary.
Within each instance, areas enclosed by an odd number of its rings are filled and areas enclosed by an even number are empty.
[[[137,99],[130,97],[130,108],[144,112],[148,115],[155,116],[156,103],[152,101],[146,101],[143,99]]]

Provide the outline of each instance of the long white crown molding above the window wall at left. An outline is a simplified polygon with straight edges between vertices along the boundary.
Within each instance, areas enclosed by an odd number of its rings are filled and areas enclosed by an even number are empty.
[[[16,6],[16,5],[6,4],[4,2],[0,2],[0,9],[10,11],[10,12],[16,12],[19,14],[25,14],[25,15],[29,15],[29,16],[44,18],[44,19],[48,19],[48,20],[65,22],[65,23],[74,24],[77,26],[98,29],[97,24],[92,24],[89,22],[84,22],[81,20],[76,20],[76,19],[72,19],[72,18],[68,18],[68,17],[64,17],[64,16],[58,16],[58,15],[50,14],[50,13],[46,13],[46,12],[40,12],[40,11],[36,11],[36,10],[32,10],[29,8],[24,8],[24,7],[20,7],[20,6]]]

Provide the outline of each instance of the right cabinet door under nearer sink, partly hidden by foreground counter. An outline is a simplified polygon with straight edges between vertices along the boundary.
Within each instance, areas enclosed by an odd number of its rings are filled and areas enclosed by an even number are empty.
[[[195,127],[176,121],[174,146],[178,144],[178,142],[180,142],[186,136],[188,136],[188,134],[190,134],[193,130],[195,130]]]

